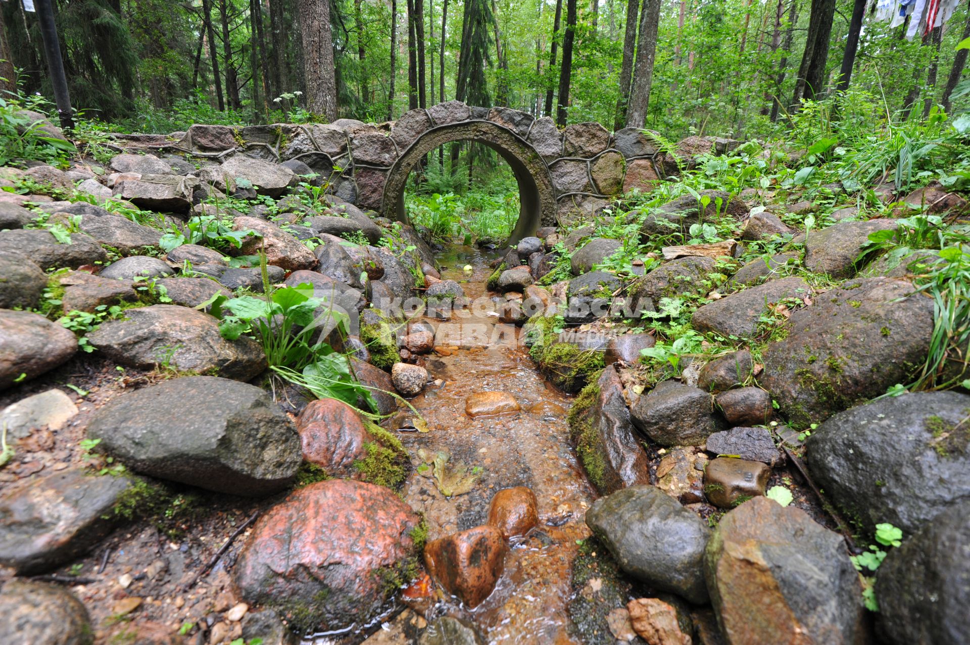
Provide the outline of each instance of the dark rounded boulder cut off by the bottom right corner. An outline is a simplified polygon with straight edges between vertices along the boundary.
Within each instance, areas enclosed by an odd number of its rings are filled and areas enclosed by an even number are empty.
[[[893,645],[970,641],[970,502],[937,515],[889,550],[876,576],[881,631]]]

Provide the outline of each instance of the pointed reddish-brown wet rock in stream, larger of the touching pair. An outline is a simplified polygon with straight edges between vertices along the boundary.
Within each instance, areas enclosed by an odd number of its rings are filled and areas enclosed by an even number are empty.
[[[425,545],[428,572],[445,591],[472,609],[495,589],[504,556],[501,531],[489,525],[439,537]]]

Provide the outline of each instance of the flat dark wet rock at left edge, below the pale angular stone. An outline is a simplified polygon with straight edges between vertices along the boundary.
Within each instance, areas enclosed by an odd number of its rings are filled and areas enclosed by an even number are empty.
[[[133,483],[71,468],[8,491],[0,497],[0,564],[43,573],[85,554],[112,531],[114,504]]]

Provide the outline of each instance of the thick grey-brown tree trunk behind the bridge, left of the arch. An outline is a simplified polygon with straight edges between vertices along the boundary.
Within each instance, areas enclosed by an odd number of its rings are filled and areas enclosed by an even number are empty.
[[[330,0],[298,0],[303,36],[307,110],[337,120],[337,80],[330,30]]]

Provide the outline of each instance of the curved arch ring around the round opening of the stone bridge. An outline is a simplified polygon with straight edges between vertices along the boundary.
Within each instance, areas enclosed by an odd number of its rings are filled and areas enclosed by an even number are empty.
[[[392,219],[407,222],[404,185],[411,170],[426,154],[440,145],[473,141],[499,153],[519,184],[519,219],[510,243],[535,234],[543,221],[555,221],[556,191],[542,157],[533,145],[507,128],[485,120],[467,120],[438,125],[426,130],[409,145],[391,166],[384,184],[380,211]]]

